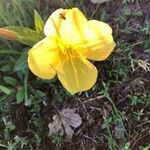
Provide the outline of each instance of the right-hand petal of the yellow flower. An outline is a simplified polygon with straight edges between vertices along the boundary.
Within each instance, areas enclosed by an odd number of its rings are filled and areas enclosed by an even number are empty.
[[[88,59],[100,61],[106,59],[115,47],[111,27],[97,20],[88,22],[84,40],[80,45],[80,54]]]

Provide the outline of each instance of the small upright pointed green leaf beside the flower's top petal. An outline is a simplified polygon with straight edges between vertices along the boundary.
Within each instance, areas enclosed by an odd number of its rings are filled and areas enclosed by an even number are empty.
[[[34,23],[35,23],[36,32],[38,34],[43,35],[44,22],[36,10],[34,10]]]

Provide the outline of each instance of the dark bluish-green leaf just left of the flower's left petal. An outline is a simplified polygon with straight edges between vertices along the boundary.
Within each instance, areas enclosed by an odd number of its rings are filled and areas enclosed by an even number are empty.
[[[15,63],[14,71],[20,71],[27,68],[27,58],[28,58],[28,50],[25,50],[23,54],[18,58]]]

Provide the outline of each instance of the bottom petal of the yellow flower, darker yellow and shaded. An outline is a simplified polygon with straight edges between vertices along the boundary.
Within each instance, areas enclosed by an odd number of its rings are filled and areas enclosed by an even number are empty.
[[[63,86],[74,94],[89,90],[95,84],[97,69],[88,60],[76,57],[66,60],[57,75]]]

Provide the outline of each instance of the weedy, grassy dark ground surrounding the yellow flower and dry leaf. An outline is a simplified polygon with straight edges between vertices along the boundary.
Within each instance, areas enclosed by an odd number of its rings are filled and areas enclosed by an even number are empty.
[[[0,0],[0,26],[33,29],[34,9],[45,21],[56,8],[74,6],[88,18],[111,24],[115,51],[106,61],[95,63],[99,77],[92,90],[71,96],[57,79],[41,80],[31,74],[26,62],[29,47],[0,38],[0,149],[144,150],[150,145],[150,20],[145,16],[146,2],[139,9],[133,0],[102,5],[74,0]],[[112,6],[117,9],[110,9]],[[48,124],[56,114],[54,106],[59,110],[77,108],[84,120],[72,143],[59,133],[48,137]],[[90,126],[88,117],[94,120]]]

